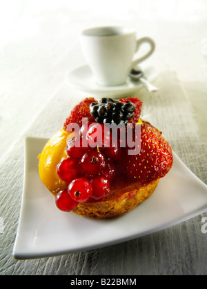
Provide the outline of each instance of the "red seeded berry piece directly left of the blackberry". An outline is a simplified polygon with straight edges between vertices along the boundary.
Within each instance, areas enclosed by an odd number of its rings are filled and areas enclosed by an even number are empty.
[[[95,98],[85,98],[78,105],[76,105],[72,111],[70,111],[70,116],[66,119],[63,129],[67,130],[67,126],[75,122],[81,127],[82,118],[88,118],[88,122],[95,122],[95,118],[90,114],[90,103],[97,102]]]

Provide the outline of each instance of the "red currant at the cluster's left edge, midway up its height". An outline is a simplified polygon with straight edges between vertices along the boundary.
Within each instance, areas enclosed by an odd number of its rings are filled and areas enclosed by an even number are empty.
[[[79,160],[75,158],[66,158],[57,165],[57,175],[65,182],[72,182],[79,176],[80,170]]]

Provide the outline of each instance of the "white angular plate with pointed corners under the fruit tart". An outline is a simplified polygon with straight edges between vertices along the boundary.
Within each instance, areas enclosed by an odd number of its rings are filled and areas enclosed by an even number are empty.
[[[207,186],[173,153],[173,167],[150,199],[126,215],[93,220],[64,213],[39,178],[37,156],[46,138],[26,138],[23,198],[13,248],[16,259],[34,259],[101,248],[179,224],[207,211]]]

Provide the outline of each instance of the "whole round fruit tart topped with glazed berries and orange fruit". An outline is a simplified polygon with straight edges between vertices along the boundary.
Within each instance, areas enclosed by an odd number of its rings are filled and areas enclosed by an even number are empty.
[[[41,181],[61,211],[99,219],[147,200],[172,167],[159,129],[141,120],[138,98],[86,98],[39,155]]]

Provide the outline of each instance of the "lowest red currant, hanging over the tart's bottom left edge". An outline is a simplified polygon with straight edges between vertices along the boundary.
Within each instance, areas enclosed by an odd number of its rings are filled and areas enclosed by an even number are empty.
[[[59,210],[70,212],[77,207],[78,202],[70,197],[67,190],[60,191],[55,197],[55,204]]]

